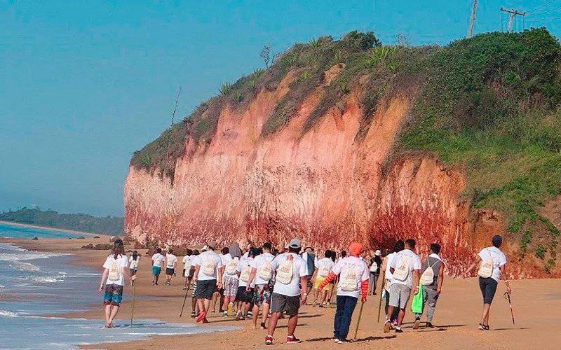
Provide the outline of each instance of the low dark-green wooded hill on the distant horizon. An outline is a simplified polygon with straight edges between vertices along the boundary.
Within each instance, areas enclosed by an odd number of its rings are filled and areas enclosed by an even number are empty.
[[[6,211],[0,214],[0,221],[26,223],[105,235],[123,235],[124,218],[107,216],[96,218],[88,214],[58,214],[54,210],[27,209]]]

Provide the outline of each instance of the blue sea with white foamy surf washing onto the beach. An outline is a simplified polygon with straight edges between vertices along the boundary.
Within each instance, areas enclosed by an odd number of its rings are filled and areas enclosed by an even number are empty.
[[[0,224],[0,237],[76,237],[66,232]],[[115,328],[103,320],[63,318],[59,314],[87,311],[97,305],[102,316],[101,274],[72,265],[69,254],[29,251],[0,239],[0,349],[78,349],[80,344],[125,342],[151,335],[188,335],[234,330],[236,327],[200,327],[135,320],[119,314]],[[100,262],[101,264],[102,262]],[[123,300],[128,300],[126,293]]]

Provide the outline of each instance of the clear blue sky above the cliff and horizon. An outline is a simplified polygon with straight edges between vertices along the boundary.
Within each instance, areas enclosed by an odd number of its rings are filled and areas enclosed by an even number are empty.
[[[413,45],[466,36],[473,1],[0,0],[0,211],[38,205],[123,215],[133,151],[273,52],[320,35],[374,31]],[[561,0],[480,0],[474,34],[561,36]]]

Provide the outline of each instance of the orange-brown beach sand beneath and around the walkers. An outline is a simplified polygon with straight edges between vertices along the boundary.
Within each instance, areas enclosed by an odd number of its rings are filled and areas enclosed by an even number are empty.
[[[105,239],[1,239],[12,241],[27,249],[41,251],[58,251],[73,253],[78,258],[76,263],[95,267],[101,272],[102,262],[108,251],[92,251],[80,248],[88,243],[104,243]],[[128,248],[128,247],[127,247]],[[145,251],[140,251],[144,253]],[[190,318],[191,297],[187,297],[184,316],[179,318],[184,298],[183,279],[173,280],[172,286],[165,286],[165,277],[160,286],[151,286],[151,260],[147,256],[140,261],[136,294],[142,295],[135,301],[135,318],[158,318],[168,322],[195,323]],[[182,267],[182,264],[180,264]],[[365,304],[360,321],[357,339],[351,344],[334,344],[332,342],[332,323],[335,308],[320,309],[304,306],[301,308],[296,335],[303,340],[302,344],[285,344],[286,320],[279,321],[275,333],[276,347],[295,349],[334,349],[339,346],[352,349],[559,349],[561,342],[561,280],[532,279],[511,281],[513,288],[513,307],[516,324],[513,325],[508,303],[503,299],[505,290],[501,281],[492,304],[490,325],[491,330],[483,332],[477,329],[482,307],[478,281],[471,279],[445,279],[442,295],[438,300],[433,329],[425,329],[421,324],[419,330],[412,330],[412,314],[405,316],[404,333],[396,335],[382,332],[382,314],[377,323],[379,295],[370,296]],[[97,288],[98,284],[92,288]],[[189,291],[190,292],[190,291]],[[126,293],[132,293],[127,287]],[[154,297],[154,298],[150,298]],[[67,316],[102,319],[102,294],[100,304],[95,311],[88,311]],[[311,300],[310,300],[311,301]],[[123,302],[119,311],[119,319],[130,318],[130,302]],[[349,338],[352,339],[358,318],[358,307],[353,315]],[[84,349],[193,349],[203,347],[216,349],[224,346],[227,349],[262,349],[266,331],[252,330],[250,321],[233,321],[224,319],[219,314],[210,315],[210,325],[238,325],[242,329],[232,332],[215,334],[181,335],[170,337],[152,337],[127,343],[107,343],[83,346]],[[424,321],[424,318],[422,318]],[[102,322],[102,321],[100,321]],[[205,325],[201,325],[205,327]]]

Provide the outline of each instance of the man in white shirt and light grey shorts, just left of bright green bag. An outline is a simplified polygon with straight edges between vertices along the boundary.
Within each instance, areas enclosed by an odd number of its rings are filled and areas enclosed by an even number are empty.
[[[419,255],[413,252],[415,241],[407,239],[405,241],[405,249],[396,254],[391,261],[390,272],[392,274],[392,283],[390,286],[390,302],[388,314],[392,314],[396,307],[399,307],[398,324],[396,332],[401,333],[401,323],[405,316],[405,308],[407,302],[413,292],[414,295],[419,293],[419,275],[421,273],[421,259]],[[384,323],[384,333],[390,331],[391,320],[386,319]]]

